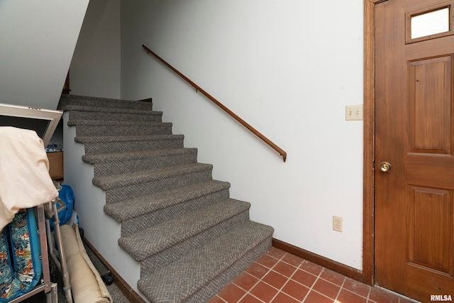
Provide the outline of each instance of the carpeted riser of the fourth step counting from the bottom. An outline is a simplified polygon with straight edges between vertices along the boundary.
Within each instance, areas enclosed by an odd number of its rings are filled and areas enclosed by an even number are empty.
[[[156,194],[157,192],[162,192],[164,190],[183,187],[197,182],[204,182],[210,179],[211,169],[125,187],[117,187],[106,191],[106,203],[115,203],[127,199],[134,199],[136,197],[148,196],[149,194]]]

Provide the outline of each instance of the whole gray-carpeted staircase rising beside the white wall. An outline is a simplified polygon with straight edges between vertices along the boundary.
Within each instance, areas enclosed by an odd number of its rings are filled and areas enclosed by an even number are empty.
[[[150,302],[206,302],[270,248],[273,228],[250,221],[250,204],[229,197],[150,102],[64,94],[59,108],[121,226],[118,246],[140,264],[130,285]]]

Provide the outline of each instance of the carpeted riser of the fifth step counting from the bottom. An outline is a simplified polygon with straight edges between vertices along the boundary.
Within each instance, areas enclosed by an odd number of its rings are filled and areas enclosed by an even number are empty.
[[[155,168],[195,163],[197,153],[183,153],[155,158],[123,160],[118,162],[98,163],[94,165],[94,177],[118,175],[126,172],[139,172]]]

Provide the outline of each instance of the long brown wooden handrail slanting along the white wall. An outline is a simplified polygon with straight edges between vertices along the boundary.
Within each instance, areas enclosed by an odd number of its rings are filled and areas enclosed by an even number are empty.
[[[197,92],[201,92],[202,94],[204,94],[206,98],[208,98],[211,101],[213,101],[214,104],[216,104],[217,106],[221,107],[221,109],[223,109],[223,111],[226,111],[226,113],[231,115],[234,119],[236,119],[236,121],[238,121],[241,124],[243,124],[243,126],[245,126],[245,128],[248,128],[248,130],[252,131],[255,134],[255,136],[258,136],[260,139],[262,139],[262,141],[264,141],[265,143],[270,145],[272,148],[274,148],[277,151],[277,153],[279,153],[279,155],[282,155],[282,158],[284,159],[284,162],[285,162],[285,160],[287,160],[287,153],[284,150],[282,150],[282,148],[279,148],[279,146],[277,146],[275,143],[272,143],[272,141],[270,141],[270,139],[268,139],[267,137],[263,136],[259,131],[257,131],[255,128],[250,126],[246,121],[244,121],[239,116],[237,116],[235,113],[233,113],[233,111],[231,111],[226,106],[221,104],[221,102],[219,102],[218,100],[214,99],[214,97],[212,97],[211,94],[205,92],[204,89],[201,89],[201,87],[199,87],[199,85],[197,85],[194,82],[192,82],[188,77],[186,77],[181,72],[179,72],[175,67],[173,67],[172,65],[167,63],[164,59],[162,59],[162,57],[156,55],[156,53],[154,53],[153,50],[150,50],[150,48],[147,48],[145,45],[142,45],[142,48],[144,50],[146,50],[148,54],[151,54],[151,55],[155,56],[157,60],[160,60],[160,62],[162,62],[165,66],[169,67],[170,70],[173,70],[177,75],[179,75],[179,77],[182,77],[184,80],[186,80],[186,82],[191,84],[192,87],[194,87],[194,89],[196,89]]]

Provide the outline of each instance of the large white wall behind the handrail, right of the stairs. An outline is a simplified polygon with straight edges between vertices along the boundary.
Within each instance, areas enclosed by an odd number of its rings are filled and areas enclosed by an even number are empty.
[[[362,1],[121,2],[121,95],[214,164],[275,238],[362,269]],[[287,162],[142,50],[145,44],[288,153]],[[343,233],[332,216],[343,217]]]

